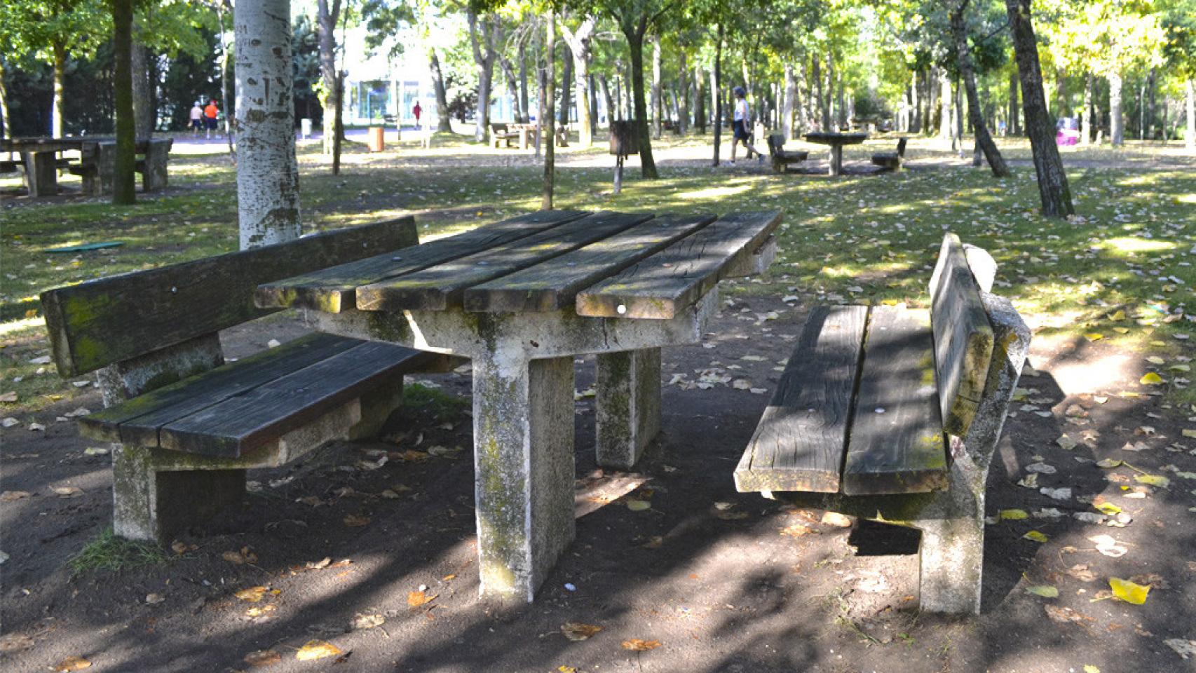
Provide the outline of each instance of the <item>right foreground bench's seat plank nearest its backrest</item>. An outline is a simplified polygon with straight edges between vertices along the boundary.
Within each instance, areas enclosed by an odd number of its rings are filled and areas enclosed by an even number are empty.
[[[934,338],[925,310],[875,306],[868,317],[843,492],[947,488],[947,449],[934,388]]]

